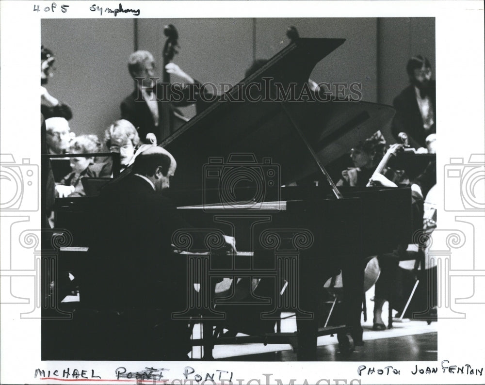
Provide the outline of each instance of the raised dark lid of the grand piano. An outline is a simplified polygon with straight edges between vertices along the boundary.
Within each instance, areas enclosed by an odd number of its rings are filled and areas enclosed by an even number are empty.
[[[300,38],[228,93],[237,98],[247,84],[265,84],[263,78],[271,78],[285,89],[295,83],[295,95],[299,95],[314,66],[344,41]],[[261,96],[264,90],[262,87]],[[178,164],[171,190],[202,189],[207,180],[207,167],[214,166],[213,158],[218,158],[216,168],[237,166],[239,163],[229,162],[229,155],[242,153],[252,154],[255,166],[275,166],[280,171],[280,183],[289,184],[318,171],[311,151],[295,126],[320,161],[328,164],[390,124],[394,115],[390,106],[362,101],[285,101],[282,104],[281,101],[218,100],[165,139],[161,145],[174,155]],[[270,163],[264,163],[268,158]]]

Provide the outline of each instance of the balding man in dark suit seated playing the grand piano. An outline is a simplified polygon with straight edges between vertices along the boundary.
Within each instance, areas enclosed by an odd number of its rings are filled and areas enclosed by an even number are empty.
[[[131,340],[139,339],[138,359],[186,359],[190,351],[187,321],[171,320],[173,311],[185,309],[188,290],[185,258],[173,253],[172,234],[191,228],[162,194],[176,168],[170,153],[149,147],[129,176],[102,190],[93,221],[85,304],[124,314]],[[233,237],[225,240],[235,248]]]

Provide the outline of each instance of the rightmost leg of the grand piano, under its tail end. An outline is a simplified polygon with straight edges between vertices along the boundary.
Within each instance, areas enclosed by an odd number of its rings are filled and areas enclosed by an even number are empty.
[[[362,313],[362,291],[364,290],[364,263],[360,256],[347,256],[342,267],[343,303],[347,317],[346,325],[352,329],[355,345],[363,345],[363,329],[360,325]]]

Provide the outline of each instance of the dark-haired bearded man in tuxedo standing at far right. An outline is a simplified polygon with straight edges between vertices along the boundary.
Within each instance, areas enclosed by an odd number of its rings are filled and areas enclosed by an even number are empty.
[[[413,56],[406,71],[410,85],[394,99],[396,115],[392,121],[392,134],[399,140],[405,132],[412,147],[426,147],[426,137],[436,133],[436,82],[428,59]]]

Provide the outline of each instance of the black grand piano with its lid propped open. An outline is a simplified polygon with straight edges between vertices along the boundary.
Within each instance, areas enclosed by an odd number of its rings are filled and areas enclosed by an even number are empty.
[[[160,144],[177,160],[169,194],[187,220],[195,228],[236,237],[240,255],[227,258],[230,263],[213,267],[207,259],[199,264],[209,266],[203,272],[207,282],[201,285],[213,289],[212,277],[231,277],[233,282],[262,277],[274,283],[273,298],[248,290],[251,308],[264,309],[261,323],[274,325],[283,308],[296,314],[295,333],[278,334],[256,325],[238,330],[247,339],[216,338],[213,326],[224,325],[219,310],[243,319],[248,303],[234,301],[234,291],[222,299],[210,294],[199,301],[210,304],[209,316],[202,317],[205,339],[194,341],[206,347],[206,358],[217,343],[288,342],[299,360],[314,360],[317,337],[333,333],[340,350],[351,351],[350,337],[362,343],[364,258],[410,242],[410,189],[339,189],[324,167],[388,125],[394,110],[363,101],[273,97],[277,87],[299,96],[315,64],[343,43],[309,38],[292,42]],[[315,173],[324,183],[304,182]],[[67,199],[61,207],[79,213],[82,202]],[[61,217],[65,222],[60,227],[69,229],[69,215]],[[210,253],[184,253],[194,260],[210,258]],[[323,328],[318,317],[323,283],[339,271],[346,320],[339,327]],[[281,282],[286,289],[280,298]],[[174,316],[183,318],[193,310],[190,306]]]

